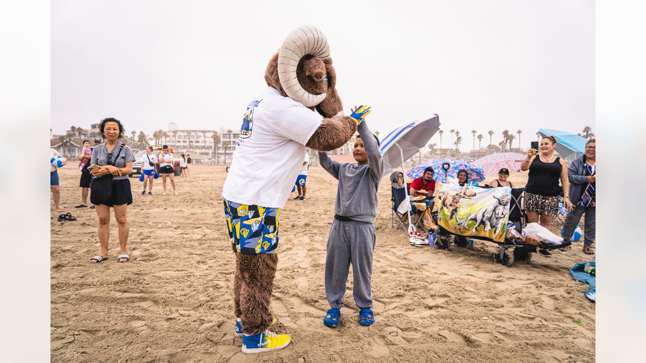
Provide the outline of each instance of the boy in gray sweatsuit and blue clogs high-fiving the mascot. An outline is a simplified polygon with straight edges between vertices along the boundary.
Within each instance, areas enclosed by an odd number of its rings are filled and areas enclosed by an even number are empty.
[[[359,136],[352,150],[356,164],[339,163],[331,160],[326,152],[318,152],[320,165],[339,180],[325,265],[325,293],[331,309],[323,318],[323,324],[329,327],[339,324],[350,264],[354,276],[353,295],[360,309],[359,324],[370,326],[375,322],[371,310],[372,254],[377,190],[384,172],[384,160],[379,152],[379,141],[368,130],[365,120],[359,123],[357,130]]]

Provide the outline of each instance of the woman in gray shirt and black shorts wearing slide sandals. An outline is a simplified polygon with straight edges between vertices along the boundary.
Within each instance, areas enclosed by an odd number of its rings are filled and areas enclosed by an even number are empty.
[[[128,145],[119,141],[125,135],[125,129],[118,119],[103,119],[99,123],[99,133],[106,142],[96,145],[92,150],[91,165],[88,170],[93,176],[92,182],[90,182],[90,202],[96,205],[101,254],[90,258],[90,263],[98,264],[109,257],[110,207],[114,209],[114,218],[119,225],[120,254],[117,261],[128,262],[130,256],[126,253],[126,246],[130,225],[126,209],[129,204],[132,204],[128,176],[132,173],[134,155]]]

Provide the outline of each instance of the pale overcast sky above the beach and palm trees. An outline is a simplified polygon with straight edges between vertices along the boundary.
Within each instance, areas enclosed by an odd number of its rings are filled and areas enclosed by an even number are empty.
[[[483,134],[594,129],[594,1],[52,2],[52,129],[106,117],[140,130],[240,129],[287,34],[329,40],[346,114],[368,104],[380,138],[439,114]],[[439,135],[432,143],[439,146]],[[525,145],[526,144],[526,145]],[[477,140],[475,141],[477,147]],[[517,141],[514,142],[517,146]]]

